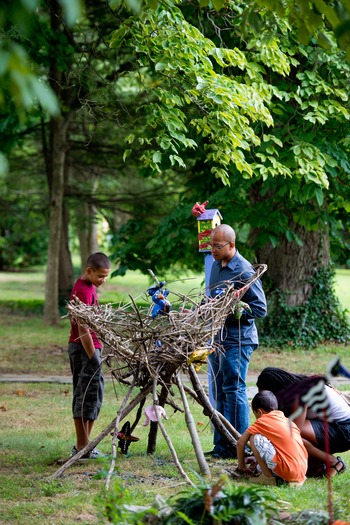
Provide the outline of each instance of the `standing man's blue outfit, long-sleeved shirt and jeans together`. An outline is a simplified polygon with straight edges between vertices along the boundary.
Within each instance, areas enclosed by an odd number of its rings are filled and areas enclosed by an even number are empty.
[[[226,266],[222,266],[221,261],[214,261],[209,281],[211,297],[225,287],[226,281],[234,283],[236,289],[242,288],[254,273],[253,266],[238,250]],[[246,378],[250,357],[259,344],[255,319],[265,317],[267,312],[260,279],[249,287],[242,301],[249,304],[251,312],[245,310],[240,319],[233,315],[227,317],[224,327],[215,336],[218,349],[209,356],[215,408],[240,434],[249,426]],[[226,440],[217,430],[214,431],[214,452],[230,453]]]

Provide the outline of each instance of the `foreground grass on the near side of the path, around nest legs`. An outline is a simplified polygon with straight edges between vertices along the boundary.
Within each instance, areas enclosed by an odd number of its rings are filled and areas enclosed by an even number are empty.
[[[125,389],[118,387],[117,395],[107,382],[105,402],[96,423],[98,435],[116,415]],[[179,402],[176,395],[175,401]],[[47,525],[76,522],[102,524],[101,509],[96,498],[105,490],[105,475],[109,461],[90,461],[73,465],[63,477],[51,481],[59,468],[57,460],[69,454],[74,443],[70,413],[71,387],[58,384],[0,384],[0,523],[1,525]],[[190,400],[204,450],[212,446],[212,431],[201,408]],[[183,414],[167,407],[169,420],[166,430],[176,448],[185,472],[192,481],[198,480],[198,465],[188,437]],[[128,419],[133,422],[135,412]],[[141,419],[140,423],[143,422]],[[131,492],[135,505],[151,505],[157,495],[163,497],[186,489],[183,478],[173,463],[170,451],[161,435],[157,451],[147,456],[148,427],[138,425],[134,434],[140,438],[130,447],[130,457],[118,453],[115,476]],[[111,451],[112,436],[99,445]],[[350,463],[350,453],[342,454]],[[211,461],[212,482],[232,469],[232,461]],[[197,475],[195,474],[197,472]],[[350,473],[332,480],[333,504],[337,518],[350,518],[348,484]],[[248,486],[248,481],[239,481]],[[307,480],[299,489],[269,488],[276,498],[276,508],[290,513],[302,510],[327,510],[326,480]]]

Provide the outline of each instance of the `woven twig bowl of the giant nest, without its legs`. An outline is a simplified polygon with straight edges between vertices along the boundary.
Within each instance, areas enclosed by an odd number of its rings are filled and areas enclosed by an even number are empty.
[[[67,304],[67,310],[73,319],[98,334],[109,365],[120,380],[132,377],[134,384],[144,386],[157,375],[160,382],[169,382],[177,370],[186,371],[196,356],[200,360],[208,347],[215,348],[215,334],[265,270],[265,265],[259,265],[240,289],[224,283],[224,292],[216,299],[203,292],[194,297],[176,294],[178,309],[155,319],[147,308],[138,308],[133,302],[128,311],[110,304],[86,306],[76,299]]]

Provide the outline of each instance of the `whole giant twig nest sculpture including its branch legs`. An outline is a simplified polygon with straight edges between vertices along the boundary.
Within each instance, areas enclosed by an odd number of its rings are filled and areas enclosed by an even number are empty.
[[[191,483],[183,471],[171,438],[160,418],[159,407],[163,407],[165,403],[173,404],[168,399],[168,394],[174,386],[180,392],[183,404],[181,410],[185,412],[201,473],[210,475],[210,470],[200,446],[196,426],[187,403],[187,395],[193,397],[203,407],[204,414],[225,437],[232,451],[235,451],[239,434],[211,405],[196,368],[205,362],[208,353],[220,351],[220,348],[216,348],[215,335],[224,326],[226,317],[235,311],[248,288],[266,269],[266,265],[257,265],[255,273],[248,280],[238,282],[236,279],[234,284],[231,281],[222,283],[223,292],[215,299],[210,298],[206,290],[188,295],[170,291],[172,297],[175,297],[175,301],[172,300],[171,311],[163,312],[156,317],[151,315],[152,305],[149,308],[139,308],[133,298],[128,305],[118,307],[112,304],[86,306],[78,299],[69,302],[66,306],[68,315],[96,332],[103,343],[104,364],[108,366],[117,381],[128,385],[129,388],[116,418],[110,425],[87,447],[70,458],[52,477],[57,478],[62,475],[68,467],[113,431],[113,457],[107,478],[108,485],[115,466],[119,425],[134,408],[138,407],[136,421],[131,429],[133,430],[141,417],[147,396],[152,394],[157,422],[153,425],[151,423],[147,452],[152,453],[155,450],[155,437],[159,427],[178,470],[186,481]],[[163,283],[160,283],[158,288],[161,291],[162,287]],[[191,386],[182,382],[181,374],[188,376]]]

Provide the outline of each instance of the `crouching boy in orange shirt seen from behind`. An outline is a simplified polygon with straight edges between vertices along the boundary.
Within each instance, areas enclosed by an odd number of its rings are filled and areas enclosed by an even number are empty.
[[[252,399],[256,417],[237,441],[238,470],[250,473],[245,463],[245,446],[249,442],[261,474],[252,483],[277,485],[278,480],[301,486],[306,479],[308,454],[299,428],[278,410],[276,396],[262,390]]]

